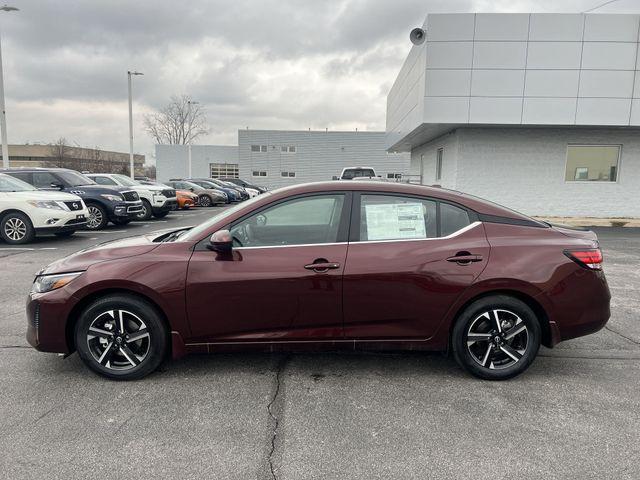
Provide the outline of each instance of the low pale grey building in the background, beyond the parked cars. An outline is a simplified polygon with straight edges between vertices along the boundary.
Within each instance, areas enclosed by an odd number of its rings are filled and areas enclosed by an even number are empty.
[[[277,188],[331,180],[369,166],[383,178],[406,176],[409,154],[388,152],[385,132],[239,130],[238,146],[193,145],[191,177],[240,177]],[[189,177],[188,146],[156,145],[157,178]]]

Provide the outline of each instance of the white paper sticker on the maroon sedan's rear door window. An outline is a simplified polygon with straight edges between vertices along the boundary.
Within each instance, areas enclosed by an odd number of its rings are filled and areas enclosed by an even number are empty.
[[[368,240],[427,238],[421,203],[365,205]]]

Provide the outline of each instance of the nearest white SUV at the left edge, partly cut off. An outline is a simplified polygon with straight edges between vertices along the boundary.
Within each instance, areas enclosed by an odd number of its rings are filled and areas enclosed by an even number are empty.
[[[0,236],[10,244],[41,234],[68,237],[87,223],[87,206],[77,195],[38,190],[0,173]]]

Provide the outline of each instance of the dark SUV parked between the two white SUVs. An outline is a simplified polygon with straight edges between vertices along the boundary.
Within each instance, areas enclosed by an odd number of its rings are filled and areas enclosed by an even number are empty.
[[[87,230],[100,230],[108,222],[126,225],[142,211],[138,193],[127,187],[98,185],[67,168],[8,168],[0,172],[25,181],[40,190],[61,190],[78,195],[87,204]]]

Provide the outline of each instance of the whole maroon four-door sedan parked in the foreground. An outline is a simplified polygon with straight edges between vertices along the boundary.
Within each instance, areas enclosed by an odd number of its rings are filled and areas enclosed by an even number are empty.
[[[449,350],[505,379],[540,344],[601,329],[609,301],[593,232],[440,188],[328,182],[47,266],[27,339],[117,379],[169,355],[305,348]]]

